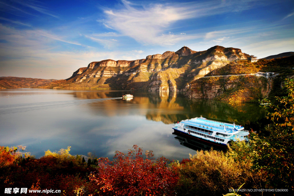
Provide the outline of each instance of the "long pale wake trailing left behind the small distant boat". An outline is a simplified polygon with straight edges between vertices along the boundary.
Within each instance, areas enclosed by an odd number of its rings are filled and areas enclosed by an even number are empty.
[[[19,112],[27,112],[32,110],[56,109],[56,108],[63,108],[63,107],[69,107],[69,106],[78,106],[78,105],[85,105],[90,103],[97,103],[97,102],[113,100],[113,99],[121,99],[121,97],[3,105],[3,106],[0,106],[0,114],[19,113]]]

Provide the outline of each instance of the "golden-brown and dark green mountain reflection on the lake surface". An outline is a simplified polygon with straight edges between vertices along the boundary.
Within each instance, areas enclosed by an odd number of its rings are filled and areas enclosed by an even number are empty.
[[[74,96],[83,99],[113,98],[121,97],[128,91],[77,91],[73,92]],[[176,123],[177,121],[200,117],[201,115],[210,120],[216,120],[226,123],[238,123],[240,125],[249,125],[263,119],[265,111],[259,108],[257,104],[245,103],[230,105],[221,103],[217,100],[197,100],[189,101],[179,93],[146,93],[132,92],[134,95],[132,105],[139,105],[138,112],[145,113],[148,120],[161,121],[165,124]],[[123,100],[119,100],[123,101]],[[108,108],[116,110],[121,103],[110,103],[105,105],[103,110],[109,116]],[[125,105],[130,106],[131,105]],[[94,105],[91,108],[95,109]],[[116,111],[121,112],[121,111]],[[127,114],[131,111],[124,111]],[[246,127],[248,128],[248,127]],[[250,129],[250,127],[248,128]]]

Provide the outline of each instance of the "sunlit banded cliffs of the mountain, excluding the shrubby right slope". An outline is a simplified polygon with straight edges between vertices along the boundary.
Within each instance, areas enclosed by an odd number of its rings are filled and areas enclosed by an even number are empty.
[[[181,91],[188,83],[214,69],[249,57],[238,48],[214,46],[206,51],[193,51],[184,46],[176,52],[166,51],[133,61],[107,59],[91,62],[70,78],[54,81],[43,88]]]

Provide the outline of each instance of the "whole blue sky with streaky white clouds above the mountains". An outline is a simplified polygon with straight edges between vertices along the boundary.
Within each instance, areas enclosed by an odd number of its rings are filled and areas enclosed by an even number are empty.
[[[213,46],[294,51],[293,0],[0,0],[0,76],[66,79],[105,59]]]

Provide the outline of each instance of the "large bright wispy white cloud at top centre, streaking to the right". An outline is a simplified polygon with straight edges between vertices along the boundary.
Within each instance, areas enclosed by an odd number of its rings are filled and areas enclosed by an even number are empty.
[[[170,26],[175,22],[250,9],[254,6],[254,2],[257,1],[222,1],[222,3],[207,1],[202,3],[149,4],[138,8],[138,6],[133,6],[129,1],[124,0],[121,9],[105,9],[104,13],[107,17],[102,22],[106,27],[140,43],[172,45],[179,41],[199,38],[195,33],[173,34],[169,32]]]

